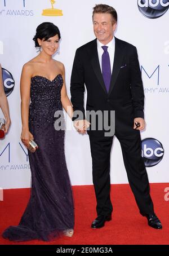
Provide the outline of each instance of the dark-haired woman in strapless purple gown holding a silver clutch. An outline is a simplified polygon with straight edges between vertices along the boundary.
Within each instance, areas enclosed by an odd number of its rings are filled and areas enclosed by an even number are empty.
[[[26,147],[29,140],[34,140],[38,149],[29,151],[32,190],[23,217],[18,226],[3,232],[3,237],[12,241],[48,241],[60,234],[73,235],[74,206],[65,162],[65,131],[54,126],[55,112],[64,108],[70,117],[73,115],[64,65],[52,59],[59,39],[54,24],[40,24],[33,38],[39,55],[24,65],[21,74],[21,140]]]

